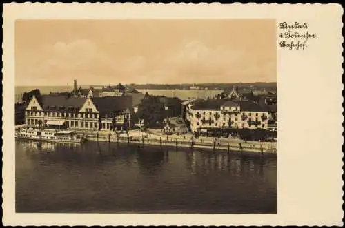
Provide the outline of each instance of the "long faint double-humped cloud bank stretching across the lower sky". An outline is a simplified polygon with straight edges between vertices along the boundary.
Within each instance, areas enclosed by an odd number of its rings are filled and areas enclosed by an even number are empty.
[[[255,77],[260,81],[275,72],[274,61],[258,59],[243,49],[211,47],[201,41],[181,43],[153,55],[122,57],[113,52],[87,39],[56,42],[43,48],[40,57],[32,56],[32,62],[26,63],[26,72],[48,85],[69,83],[72,79],[83,85],[205,83],[210,79],[246,81]],[[21,72],[25,72],[23,68]],[[272,77],[274,80],[275,75]]]

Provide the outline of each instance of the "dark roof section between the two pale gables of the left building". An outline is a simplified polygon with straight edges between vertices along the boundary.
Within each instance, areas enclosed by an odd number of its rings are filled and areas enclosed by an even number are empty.
[[[66,109],[68,107],[80,108],[83,103],[85,103],[86,97],[71,96],[68,98],[67,96],[43,95],[39,100],[43,110],[49,110],[50,107],[57,107],[58,110],[59,107],[64,107]]]

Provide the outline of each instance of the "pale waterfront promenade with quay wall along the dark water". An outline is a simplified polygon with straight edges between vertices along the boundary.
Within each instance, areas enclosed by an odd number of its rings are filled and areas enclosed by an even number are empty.
[[[25,125],[16,126],[16,129]],[[148,129],[142,132],[139,129],[130,130],[128,134],[115,132],[75,130],[77,134],[89,141],[103,141],[109,143],[128,143],[139,146],[154,145],[161,147],[186,147],[191,149],[207,149],[226,152],[253,152],[259,154],[276,154],[276,142],[243,141],[234,138],[194,138],[193,134],[164,135],[159,129]]]

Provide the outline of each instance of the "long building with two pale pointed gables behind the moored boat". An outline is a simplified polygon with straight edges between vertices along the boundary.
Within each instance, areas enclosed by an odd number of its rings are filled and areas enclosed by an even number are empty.
[[[36,127],[115,131],[131,129],[132,114],[130,96],[32,96],[25,110],[25,122]]]

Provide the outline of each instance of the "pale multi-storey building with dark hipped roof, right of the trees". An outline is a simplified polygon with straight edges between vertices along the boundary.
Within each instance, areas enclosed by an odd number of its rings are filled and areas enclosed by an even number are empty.
[[[268,129],[268,110],[250,101],[210,99],[186,105],[191,132],[213,129]]]

